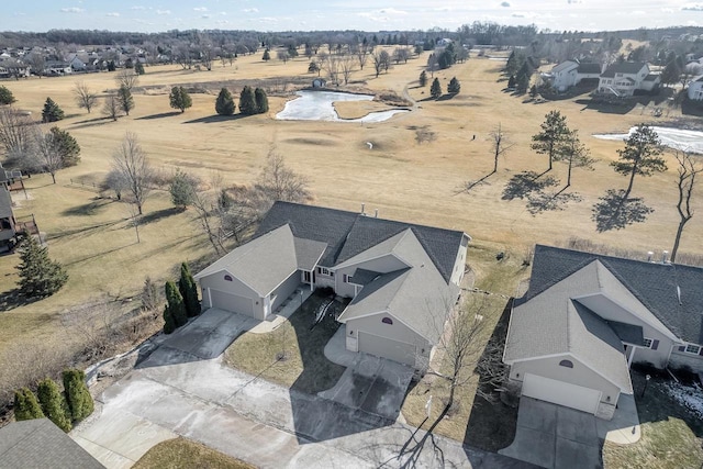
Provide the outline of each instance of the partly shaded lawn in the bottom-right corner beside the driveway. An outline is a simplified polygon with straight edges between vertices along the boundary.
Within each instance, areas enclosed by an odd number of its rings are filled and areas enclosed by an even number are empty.
[[[607,469],[699,469],[703,467],[703,422],[673,401],[660,383],[666,378],[652,377],[645,395],[643,375],[633,371],[641,439],[621,446],[606,442],[603,464]]]

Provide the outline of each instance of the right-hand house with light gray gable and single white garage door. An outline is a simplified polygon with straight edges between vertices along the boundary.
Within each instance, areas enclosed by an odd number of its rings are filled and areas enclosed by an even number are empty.
[[[522,395],[610,420],[629,367],[703,371],[703,268],[536,246],[503,361]]]

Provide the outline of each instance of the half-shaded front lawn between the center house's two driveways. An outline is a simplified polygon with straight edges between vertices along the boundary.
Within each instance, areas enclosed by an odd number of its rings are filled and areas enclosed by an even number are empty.
[[[310,330],[324,298],[315,292],[270,333],[239,336],[225,351],[225,364],[309,394],[332,388],[345,367],[327,360],[324,347],[339,325],[326,317]]]

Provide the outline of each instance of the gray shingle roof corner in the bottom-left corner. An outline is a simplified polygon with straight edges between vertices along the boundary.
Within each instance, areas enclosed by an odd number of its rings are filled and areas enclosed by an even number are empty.
[[[13,422],[0,428],[0,467],[104,469],[48,418]]]

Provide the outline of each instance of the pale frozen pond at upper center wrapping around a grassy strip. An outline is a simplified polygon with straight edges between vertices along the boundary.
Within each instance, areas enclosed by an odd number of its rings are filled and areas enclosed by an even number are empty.
[[[333,103],[338,101],[371,101],[371,94],[350,94],[336,91],[298,91],[300,98],[288,101],[276,119],[280,121],[338,121],[338,122],[383,122],[408,109],[391,109],[370,112],[360,119],[342,119]]]

